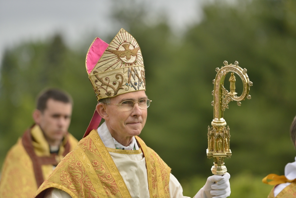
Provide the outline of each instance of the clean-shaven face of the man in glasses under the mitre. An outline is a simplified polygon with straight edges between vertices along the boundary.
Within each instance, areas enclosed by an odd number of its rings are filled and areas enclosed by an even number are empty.
[[[147,119],[147,108],[140,109],[139,104],[135,103],[131,110],[124,110],[121,102],[132,100],[138,102],[141,99],[147,99],[144,90],[129,92],[111,98],[111,104],[106,105],[107,119],[111,129],[119,133],[120,136],[139,135],[145,126]]]

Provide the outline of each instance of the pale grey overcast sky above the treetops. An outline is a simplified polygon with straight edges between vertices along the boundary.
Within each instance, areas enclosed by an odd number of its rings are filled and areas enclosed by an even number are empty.
[[[0,61],[4,50],[24,41],[44,40],[60,32],[75,45],[90,32],[108,34],[120,27],[112,23],[112,5],[143,0],[0,0]],[[168,16],[174,31],[200,21],[203,0],[145,0],[146,9]],[[118,28],[118,30],[114,30]],[[101,35],[96,35],[101,37]]]

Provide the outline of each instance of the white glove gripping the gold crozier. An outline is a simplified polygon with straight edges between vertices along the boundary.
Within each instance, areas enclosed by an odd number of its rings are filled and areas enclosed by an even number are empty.
[[[230,195],[230,175],[212,175],[207,178],[205,186],[198,191],[194,198],[226,198]]]

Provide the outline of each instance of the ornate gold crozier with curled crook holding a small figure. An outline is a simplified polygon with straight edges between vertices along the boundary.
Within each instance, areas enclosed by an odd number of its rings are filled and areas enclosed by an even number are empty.
[[[237,61],[233,64],[228,64],[227,61],[224,61],[221,69],[216,68],[216,78],[213,80],[214,91],[212,95],[214,100],[212,101],[212,106],[214,106],[214,119],[211,123],[212,127],[208,126],[208,148],[207,148],[207,157],[214,159],[214,166],[212,166],[212,173],[215,175],[223,175],[227,172],[226,167],[224,166],[224,159],[230,158],[230,134],[229,126],[226,127],[226,121],[224,120],[224,111],[228,109],[228,103],[230,101],[237,101],[237,105],[241,106],[242,100],[245,98],[251,99],[251,96],[248,95],[250,91],[250,86],[252,82],[249,80],[247,75],[247,69],[242,69],[239,67]],[[231,77],[229,78],[230,82],[230,92],[224,88],[224,79],[228,72],[231,72]],[[237,96],[235,93],[235,76],[236,73],[243,82],[243,92],[241,96]]]

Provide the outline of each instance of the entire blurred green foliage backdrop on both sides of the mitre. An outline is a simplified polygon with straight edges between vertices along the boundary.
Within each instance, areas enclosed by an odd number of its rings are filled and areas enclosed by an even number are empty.
[[[172,168],[184,195],[193,197],[213,165],[206,148],[215,68],[225,60],[239,61],[253,86],[251,100],[241,107],[231,102],[225,111],[233,153],[225,160],[231,196],[267,197],[272,186],[261,179],[269,173],[283,175],[285,164],[295,157],[289,127],[296,114],[296,2],[213,1],[204,6],[203,20],[181,36],[172,32],[163,15],[158,23],[145,23],[147,11],[136,6],[115,5],[113,17],[122,24],[118,31],[123,27],[137,39],[144,57],[147,95],[153,102],[140,137]],[[113,37],[103,40],[109,43]],[[96,105],[85,70],[91,41],[85,40],[87,47],[72,50],[57,34],[5,52],[0,73],[1,164],[33,123],[36,95],[46,87],[62,88],[73,96],[69,131],[82,138]],[[237,76],[240,94],[239,83]]]

